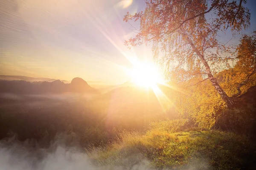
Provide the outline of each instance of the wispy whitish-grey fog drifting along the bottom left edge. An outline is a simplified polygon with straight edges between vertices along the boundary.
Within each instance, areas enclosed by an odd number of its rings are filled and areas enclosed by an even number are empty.
[[[141,156],[125,158],[123,166],[99,166],[79,146],[64,145],[63,134],[48,148],[38,148],[33,140],[18,142],[15,136],[0,141],[0,170],[151,170]],[[133,157],[133,158],[132,158]],[[136,164],[126,164],[131,160]]]

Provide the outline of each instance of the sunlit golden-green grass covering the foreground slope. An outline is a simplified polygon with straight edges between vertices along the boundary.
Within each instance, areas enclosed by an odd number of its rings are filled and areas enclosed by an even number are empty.
[[[180,127],[186,124],[182,122]],[[94,149],[90,156],[105,166],[132,167],[148,160],[157,169],[256,169],[256,150],[245,136],[219,130],[165,128],[168,126],[168,122],[159,122],[144,134],[123,132],[118,142]]]

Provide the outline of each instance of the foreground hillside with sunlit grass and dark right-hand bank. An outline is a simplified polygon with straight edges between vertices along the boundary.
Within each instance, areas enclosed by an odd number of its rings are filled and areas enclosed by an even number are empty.
[[[128,169],[149,161],[156,169],[254,170],[255,101],[253,86],[236,99],[235,109],[220,111],[212,130],[192,127],[187,119],[151,122],[146,132],[125,131],[89,154],[96,164]]]

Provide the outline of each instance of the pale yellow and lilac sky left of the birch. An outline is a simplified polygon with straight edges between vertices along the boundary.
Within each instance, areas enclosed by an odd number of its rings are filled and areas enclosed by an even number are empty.
[[[256,28],[256,1],[245,6],[251,27],[243,33],[249,33]],[[126,82],[124,68],[134,59],[152,60],[150,46],[123,45],[134,35],[123,16],[144,8],[144,0],[1,0],[0,74]]]

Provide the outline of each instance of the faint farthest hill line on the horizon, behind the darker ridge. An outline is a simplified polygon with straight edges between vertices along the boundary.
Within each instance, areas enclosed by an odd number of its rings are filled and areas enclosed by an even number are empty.
[[[8,76],[8,75],[0,75],[0,80],[24,80],[26,82],[54,82],[56,79],[43,78],[43,77],[26,77],[26,76]],[[64,83],[70,83],[67,80],[61,80]]]

